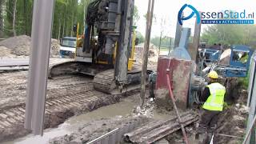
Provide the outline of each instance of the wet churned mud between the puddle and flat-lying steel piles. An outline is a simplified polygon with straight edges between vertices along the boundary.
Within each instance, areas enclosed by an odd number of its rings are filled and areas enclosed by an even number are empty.
[[[159,110],[158,106],[154,105],[154,102],[148,102],[147,98],[146,105],[143,109],[140,109],[137,105],[139,101],[139,93],[123,98],[121,101],[127,101],[127,99],[134,103],[134,109],[128,112],[125,116],[116,115],[114,118],[98,118],[94,121],[82,124],[73,134],[66,134],[51,139],[50,143],[86,143],[110,132],[111,130],[116,128],[122,129],[134,122],[139,121],[138,126],[144,126],[155,119],[162,120],[175,117],[174,111]],[[116,107],[116,109],[122,110],[122,107]],[[125,142],[125,140],[122,139],[121,143],[128,142]]]

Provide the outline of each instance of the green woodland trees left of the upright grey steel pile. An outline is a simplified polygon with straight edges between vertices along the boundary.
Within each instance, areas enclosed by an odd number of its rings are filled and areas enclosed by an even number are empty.
[[[0,37],[31,33],[32,0],[0,1]]]

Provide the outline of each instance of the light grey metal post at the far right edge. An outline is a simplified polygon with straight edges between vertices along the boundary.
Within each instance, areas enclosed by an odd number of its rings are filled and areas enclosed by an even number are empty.
[[[253,61],[256,61],[256,58],[253,59]],[[252,72],[255,73],[255,65],[254,67],[252,67]],[[248,122],[247,122],[247,127],[246,127],[246,134],[248,134],[250,132],[250,126],[252,125],[253,122],[253,118],[255,116],[255,108],[256,108],[256,81],[254,79],[254,87],[252,87],[252,89],[250,89],[250,93],[252,93],[252,98],[251,98],[251,102],[250,102],[250,112],[249,112],[249,117],[248,117]],[[250,139],[250,135],[248,136],[248,138]],[[246,142],[246,144],[249,144],[250,142]]]

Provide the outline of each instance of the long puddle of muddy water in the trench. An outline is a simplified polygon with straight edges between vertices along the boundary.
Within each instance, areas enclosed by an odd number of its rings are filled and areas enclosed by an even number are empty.
[[[75,130],[78,130],[79,126],[82,126],[86,122],[91,122],[102,118],[114,118],[131,114],[132,110],[134,110],[134,107],[138,106],[138,102],[138,95],[123,98],[122,102],[118,102],[110,106],[103,106],[92,112],[71,117],[67,119],[66,122],[59,125],[58,128],[46,129],[44,130],[42,137],[28,134],[23,138],[17,138],[10,142],[2,142],[2,144],[46,144],[52,138],[71,134]],[[170,118],[170,114],[158,114],[155,111],[153,111],[153,114],[154,118],[156,119]]]

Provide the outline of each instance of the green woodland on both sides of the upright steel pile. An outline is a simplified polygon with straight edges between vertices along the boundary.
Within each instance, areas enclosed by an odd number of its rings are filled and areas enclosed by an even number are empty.
[[[73,26],[83,30],[86,7],[91,0],[55,0],[52,38],[74,36]],[[33,0],[0,0],[0,38],[31,34]]]

